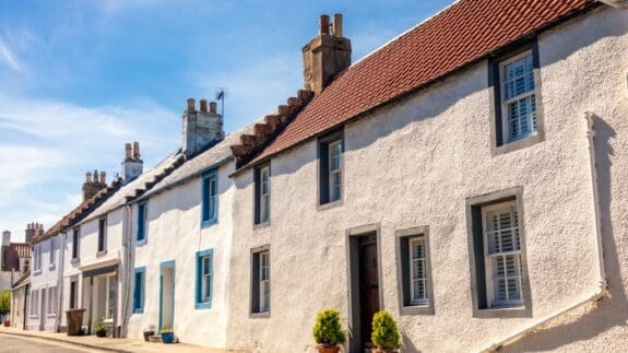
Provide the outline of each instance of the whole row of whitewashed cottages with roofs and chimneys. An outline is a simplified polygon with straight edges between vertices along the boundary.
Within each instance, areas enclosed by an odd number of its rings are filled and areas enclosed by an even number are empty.
[[[624,351],[626,7],[459,0],[353,64],[323,15],[276,114],[225,136],[190,99],[164,162],[128,148],[31,301],[247,351],[313,351],[328,307],[348,352],[380,309],[404,352]]]

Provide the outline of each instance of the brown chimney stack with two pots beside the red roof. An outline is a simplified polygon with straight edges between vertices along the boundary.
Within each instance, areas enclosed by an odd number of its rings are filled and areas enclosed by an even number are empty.
[[[343,37],[342,14],[322,14],[319,34],[303,47],[304,86],[320,93],[333,79],[351,66],[351,40]]]

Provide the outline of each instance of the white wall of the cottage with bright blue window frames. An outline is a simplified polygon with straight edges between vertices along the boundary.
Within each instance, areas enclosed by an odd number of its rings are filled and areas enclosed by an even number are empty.
[[[230,276],[234,193],[228,175],[233,170],[233,163],[218,169],[218,222],[208,227],[201,227],[200,221],[200,177],[151,196],[149,199],[147,244],[137,246],[134,255],[134,267],[146,267],[144,313],[131,316],[129,337],[142,338],[143,330],[150,325],[159,329],[159,264],[174,260],[176,262],[175,334],[185,343],[212,348],[226,346],[228,316],[226,291]],[[133,205],[133,222],[137,222],[137,204]],[[214,252],[212,307],[194,309],[195,254],[206,249],[213,249]]]

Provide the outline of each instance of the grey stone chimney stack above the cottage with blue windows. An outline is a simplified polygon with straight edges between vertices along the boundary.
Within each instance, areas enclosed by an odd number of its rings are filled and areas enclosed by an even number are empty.
[[[201,99],[199,110],[197,110],[194,99],[189,98],[182,120],[182,150],[188,156],[199,154],[225,137],[223,117],[216,113],[215,102],[210,102],[208,109],[208,101]]]

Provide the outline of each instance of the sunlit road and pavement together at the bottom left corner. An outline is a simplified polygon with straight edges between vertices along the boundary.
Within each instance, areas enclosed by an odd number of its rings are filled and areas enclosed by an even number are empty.
[[[35,343],[33,343],[36,341]],[[5,343],[9,342],[9,343]],[[33,345],[33,344],[39,345]],[[32,344],[33,346],[28,345]],[[59,350],[59,346],[62,349]],[[37,350],[35,350],[35,348]],[[71,349],[70,349],[71,348]],[[8,349],[8,350],[4,350]],[[0,327],[0,352],[121,352],[121,353],[233,353],[237,351],[210,349],[185,343],[153,343],[134,339],[98,338],[95,336],[67,336],[47,331],[26,331]]]

